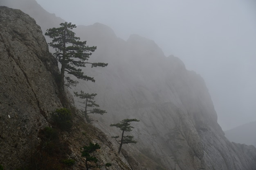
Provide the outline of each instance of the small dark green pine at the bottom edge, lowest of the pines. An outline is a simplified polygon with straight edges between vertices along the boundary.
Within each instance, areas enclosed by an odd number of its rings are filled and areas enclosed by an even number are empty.
[[[111,163],[106,163],[105,165],[97,165],[96,164],[98,162],[98,159],[95,156],[92,156],[91,154],[100,148],[101,147],[99,146],[99,144],[97,144],[97,143],[93,144],[92,142],[90,142],[89,146],[83,146],[81,153],[82,153],[82,157],[86,158],[85,159],[86,170],[89,170],[89,168],[92,168],[92,167],[100,168],[101,166],[106,166],[106,167],[111,166]],[[88,162],[93,162],[96,165],[89,165]]]

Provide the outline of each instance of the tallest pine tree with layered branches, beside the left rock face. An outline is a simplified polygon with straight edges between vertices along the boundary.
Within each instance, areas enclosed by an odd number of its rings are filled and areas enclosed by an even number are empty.
[[[78,83],[65,75],[65,72],[74,75],[76,78],[94,82],[94,78],[84,75],[79,67],[85,67],[87,64],[91,67],[105,67],[108,65],[107,63],[88,62],[90,55],[96,50],[96,46],[89,47],[86,46],[86,41],[79,41],[80,38],[75,37],[75,33],[72,31],[73,28],[76,28],[75,24],[65,22],[61,23],[58,28],[47,29],[45,33],[45,35],[52,38],[49,46],[56,50],[54,56],[61,63],[61,92],[64,92],[64,80],[67,81],[67,84]]]

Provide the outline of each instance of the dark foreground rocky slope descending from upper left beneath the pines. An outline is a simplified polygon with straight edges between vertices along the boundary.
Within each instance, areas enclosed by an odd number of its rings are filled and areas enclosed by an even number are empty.
[[[107,137],[86,124],[75,109],[71,131],[51,124],[52,112],[63,107],[55,81],[58,63],[40,26],[20,10],[0,7],[0,61],[0,165],[4,170],[85,169],[80,148],[89,142],[100,144],[97,158],[101,164],[112,163],[108,170],[130,169]],[[47,140],[52,145],[44,141],[46,126],[58,132],[53,142]],[[74,165],[67,167],[65,159],[75,160]]]

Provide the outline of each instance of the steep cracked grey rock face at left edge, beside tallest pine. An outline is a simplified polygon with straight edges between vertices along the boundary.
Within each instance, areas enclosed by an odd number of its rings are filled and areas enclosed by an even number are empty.
[[[7,7],[0,7],[0,61],[0,160],[19,167],[49,113],[61,107],[52,76],[58,66],[36,22]]]

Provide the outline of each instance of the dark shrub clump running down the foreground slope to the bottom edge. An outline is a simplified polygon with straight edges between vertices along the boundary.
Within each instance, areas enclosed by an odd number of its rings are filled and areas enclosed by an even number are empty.
[[[67,158],[71,153],[69,142],[60,139],[62,131],[70,130],[72,127],[71,118],[70,110],[56,109],[53,113],[52,127],[46,126],[38,133],[41,142],[31,156],[29,169],[63,170],[74,165],[75,160]],[[64,128],[64,125],[67,125],[67,128]]]

